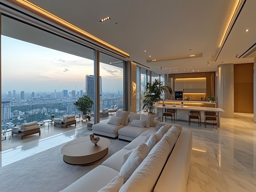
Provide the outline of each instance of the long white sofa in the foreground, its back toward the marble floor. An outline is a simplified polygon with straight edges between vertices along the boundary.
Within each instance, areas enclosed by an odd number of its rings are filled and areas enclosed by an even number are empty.
[[[166,125],[158,131],[149,128],[150,135],[144,131],[123,149],[61,192],[185,192],[192,134],[191,130],[177,127],[170,128]],[[145,150],[147,154],[144,158]],[[127,160],[124,163],[125,159]],[[123,183],[124,181],[126,182]]]

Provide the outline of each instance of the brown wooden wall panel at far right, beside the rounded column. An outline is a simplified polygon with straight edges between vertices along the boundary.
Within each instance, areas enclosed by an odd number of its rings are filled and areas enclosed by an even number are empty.
[[[234,112],[253,113],[253,66],[234,65]]]

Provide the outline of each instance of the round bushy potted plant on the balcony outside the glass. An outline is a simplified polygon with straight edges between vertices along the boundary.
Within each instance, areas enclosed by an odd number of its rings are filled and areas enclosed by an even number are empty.
[[[83,97],[78,98],[76,102],[74,102],[74,105],[78,110],[82,112],[82,118],[88,119],[88,121],[91,120],[91,108],[93,105],[93,101],[90,97],[87,95],[83,95]]]

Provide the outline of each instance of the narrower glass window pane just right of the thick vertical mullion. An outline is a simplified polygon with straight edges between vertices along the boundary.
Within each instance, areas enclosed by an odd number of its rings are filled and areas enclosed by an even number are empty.
[[[100,52],[99,78],[100,119],[104,119],[124,108],[124,61]]]

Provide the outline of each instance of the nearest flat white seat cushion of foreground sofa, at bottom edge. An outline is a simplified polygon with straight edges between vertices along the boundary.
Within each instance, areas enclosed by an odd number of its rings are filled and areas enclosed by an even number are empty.
[[[61,192],[98,191],[118,175],[118,171],[103,165],[99,165]]]

